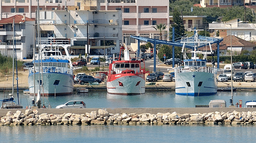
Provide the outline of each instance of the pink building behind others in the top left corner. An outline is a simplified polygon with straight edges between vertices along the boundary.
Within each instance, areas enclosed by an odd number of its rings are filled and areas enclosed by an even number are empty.
[[[74,6],[74,1],[71,0],[1,0],[0,19],[14,15],[36,18],[37,2],[39,2],[39,10],[65,10]]]

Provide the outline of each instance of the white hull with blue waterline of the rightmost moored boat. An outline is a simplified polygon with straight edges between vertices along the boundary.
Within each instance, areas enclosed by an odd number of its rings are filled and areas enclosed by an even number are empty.
[[[175,73],[175,92],[178,95],[207,96],[217,94],[217,75],[209,72]],[[201,82],[201,87],[199,85]],[[189,85],[190,84],[190,85]]]

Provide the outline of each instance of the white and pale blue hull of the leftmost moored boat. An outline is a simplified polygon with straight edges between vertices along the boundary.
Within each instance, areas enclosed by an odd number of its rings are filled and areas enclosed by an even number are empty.
[[[43,90],[40,94],[46,96],[53,95],[71,95],[74,89],[73,76],[65,73],[42,73],[44,82]],[[59,81],[59,82],[58,82]],[[34,75],[30,74],[28,78],[30,95],[34,94]],[[35,94],[38,92],[38,73],[35,73]]]

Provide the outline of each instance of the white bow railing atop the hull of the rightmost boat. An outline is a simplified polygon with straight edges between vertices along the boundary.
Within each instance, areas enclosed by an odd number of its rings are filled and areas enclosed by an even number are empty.
[[[214,67],[202,67],[202,66],[185,66],[175,68],[176,73],[181,72],[208,72],[217,74],[217,68]]]

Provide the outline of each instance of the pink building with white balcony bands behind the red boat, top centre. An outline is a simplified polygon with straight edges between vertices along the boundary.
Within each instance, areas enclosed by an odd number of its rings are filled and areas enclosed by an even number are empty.
[[[136,43],[131,35],[159,39],[159,32],[152,26],[165,24],[162,39],[168,38],[169,1],[168,0],[99,0],[101,10],[122,12],[122,42]]]

